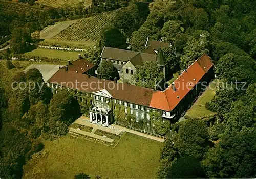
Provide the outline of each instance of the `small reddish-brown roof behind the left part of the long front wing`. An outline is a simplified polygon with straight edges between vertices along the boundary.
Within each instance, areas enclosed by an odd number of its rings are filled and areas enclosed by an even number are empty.
[[[94,64],[87,61],[86,59],[77,59],[74,62],[70,62],[71,64],[66,65],[62,67],[62,69],[65,69],[65,67],[68,67],[68,70],[78,72],[78,73],[84,73],[93,67],[95,67]]]

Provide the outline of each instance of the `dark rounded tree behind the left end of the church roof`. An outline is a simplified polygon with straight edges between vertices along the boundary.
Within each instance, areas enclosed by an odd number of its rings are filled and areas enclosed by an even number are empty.
[[[126,49],[128,45],[126,44],[124,35],[118,29],[111,28],[101,34],[99,46],[101,49],[103,49],[104,46]]]

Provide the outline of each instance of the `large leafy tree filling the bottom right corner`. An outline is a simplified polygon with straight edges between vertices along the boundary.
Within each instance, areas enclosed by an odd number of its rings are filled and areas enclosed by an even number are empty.
[[[254,178],[255,162],[254,127],[223,135],[221,141],[210,148],[202,161],[209,178]]]

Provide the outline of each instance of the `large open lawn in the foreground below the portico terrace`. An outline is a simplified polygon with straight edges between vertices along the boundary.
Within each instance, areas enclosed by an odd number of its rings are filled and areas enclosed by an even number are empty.
[[[64,136],[46,141],[41,155],[24,167],[24,178],[155,178],[162,143],[125,133],[116,148]]]

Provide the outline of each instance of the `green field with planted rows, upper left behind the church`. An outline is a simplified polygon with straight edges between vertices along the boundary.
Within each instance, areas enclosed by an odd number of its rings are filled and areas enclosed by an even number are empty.
[[[96,43],[100,31],[113,20],[115,12],[102,13],[93,17],[79,19],[52,39],[59,41],[77,41]]]

